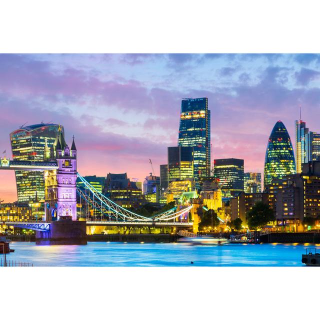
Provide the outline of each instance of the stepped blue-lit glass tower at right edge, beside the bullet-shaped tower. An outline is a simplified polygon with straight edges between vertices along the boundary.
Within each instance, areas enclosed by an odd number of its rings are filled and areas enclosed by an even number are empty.
[[[302,170],[302,163],[320,160],[320,133],[309,131],[302,120],[295,121],[296,173]]]

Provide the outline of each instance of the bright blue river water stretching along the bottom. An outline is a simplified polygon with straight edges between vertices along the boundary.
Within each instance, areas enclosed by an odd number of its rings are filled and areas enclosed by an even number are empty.
[[[222,244],[88,242],[87,245],[35,245],[12,242],[7,259],[34,266],[302,266],[313,244]],[[190,261],[194,263],[191,264]]]

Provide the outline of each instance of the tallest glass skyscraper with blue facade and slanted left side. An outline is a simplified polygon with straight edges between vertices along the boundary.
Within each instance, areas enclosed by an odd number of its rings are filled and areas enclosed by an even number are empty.
[[[210,110],[207,98],[181,101],[178,145],[193,147],[195,181],[200,176],[210,175]]]

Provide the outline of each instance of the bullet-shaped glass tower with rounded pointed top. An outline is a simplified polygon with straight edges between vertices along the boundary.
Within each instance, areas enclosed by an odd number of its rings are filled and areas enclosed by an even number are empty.
[[[264,187],[272,179],[295,174],[295,160],[291,139],[282,121],[277,121],[269,136],[264,161]]]

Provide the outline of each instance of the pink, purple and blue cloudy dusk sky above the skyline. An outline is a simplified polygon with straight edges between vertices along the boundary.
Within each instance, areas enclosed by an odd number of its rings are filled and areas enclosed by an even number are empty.
[[[74,134],[81,175],[155,174],[177,145],[184,97],[208,97],[213,158],[244,159],[263,172],[281,120],[320,131],[320,54],[0,54],[0,153],[9,133],[41,121]],[[0,171],[0,199],[16,200],[13,171]]]

